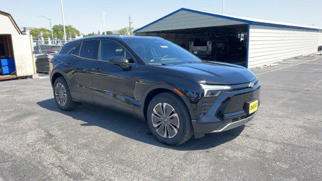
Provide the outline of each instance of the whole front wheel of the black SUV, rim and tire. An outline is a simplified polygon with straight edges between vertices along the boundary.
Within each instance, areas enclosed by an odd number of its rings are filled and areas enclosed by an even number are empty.
[[[173,93],[155,96],[147,108],[147,123],[157,140],[180,145],[193,135],[189,110]]]

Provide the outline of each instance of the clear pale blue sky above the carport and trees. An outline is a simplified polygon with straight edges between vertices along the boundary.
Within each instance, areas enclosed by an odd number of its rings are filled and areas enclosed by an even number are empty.
[[[0,0],[0,11],[10,13],[18,26],[44,27],[49,29],[46,19],[52,19],[52,24],[62,24],[60,0]],[[109,1],[109,0],[63,0],[65,24],[78,29],[81,24],[82,33],[104,30],[101,11],[106,13],[107,30],[119,30],[128,26],[128,16],[131,14],[132,26],[140,28],[158,18],[161,18],[180,8],[195,9],[221,13],[221,0],[194,1]],[[225,0],[225,14],[264,20],[281,21],[301,25],[322,27],[322,1],[320,0]]]

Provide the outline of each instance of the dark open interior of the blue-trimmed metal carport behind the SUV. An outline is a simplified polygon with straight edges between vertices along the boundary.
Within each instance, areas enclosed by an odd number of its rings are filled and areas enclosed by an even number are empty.
[[[137,32],[135,35],[162,37],[204,60],[247,66],[247,24]]]

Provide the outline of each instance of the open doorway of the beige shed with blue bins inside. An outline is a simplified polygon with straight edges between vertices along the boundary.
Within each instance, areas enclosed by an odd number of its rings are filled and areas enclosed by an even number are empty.
[[[11,35],[0,35],[0,80],[17,77],[14,58]]]

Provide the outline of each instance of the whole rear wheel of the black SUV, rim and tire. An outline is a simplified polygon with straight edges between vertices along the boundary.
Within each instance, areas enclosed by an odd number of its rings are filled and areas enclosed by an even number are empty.
[[[75,103],[70,96],[68,84],[63,77],[58,77],[53,85],[55,103],[61,110],[69,111],[74,109]]]

